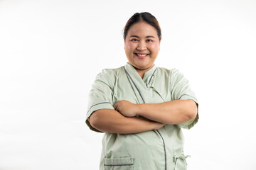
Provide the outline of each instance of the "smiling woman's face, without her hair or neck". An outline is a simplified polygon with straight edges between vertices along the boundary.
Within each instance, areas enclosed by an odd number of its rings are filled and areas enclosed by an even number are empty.
[[[156,28],[145,22],[132,25],[124,40],[124,50],[129,64],[139,70],[148,70],[154,66],[159,47]]]

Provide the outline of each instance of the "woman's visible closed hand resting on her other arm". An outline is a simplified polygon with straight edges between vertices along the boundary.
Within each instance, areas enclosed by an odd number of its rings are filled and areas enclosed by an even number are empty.
[[[125,100],[117,101],[114,104],[114,110],[126,117],[134,117],[137,115],[137,104]]]

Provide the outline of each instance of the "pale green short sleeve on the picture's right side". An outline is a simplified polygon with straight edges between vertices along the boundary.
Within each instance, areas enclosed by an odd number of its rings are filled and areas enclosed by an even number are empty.
[[[177,69],[171,70],[171,98],[172,100],[192,99],[196,102],[196,106],[198,107],[198,100],[194,92],[191,90],[188,80]],[[180,128],[190,129],[193,125],[196,125],[198,119],[199,116],[197,113],[196,118],[189,120],[186,123],[178,124],[178,126]]]

